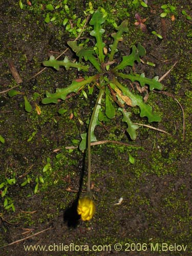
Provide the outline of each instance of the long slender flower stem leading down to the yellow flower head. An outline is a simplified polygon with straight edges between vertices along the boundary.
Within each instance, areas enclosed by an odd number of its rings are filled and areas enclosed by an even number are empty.
[[[88,185],[87,185],[88,193],[91,192],[91,132],[92,132],[91,130],[92,130],[94,117],[95,117],[96,111],[98,110],[98,105],[101,102],[103,93],[104,93],[103,89],[100,89],[99,94],[97,96],[97,101],[96,101],[94,109],[93,109],[93,113],[91,115],[91,119],[89,122],[89,128],[88,128]]]

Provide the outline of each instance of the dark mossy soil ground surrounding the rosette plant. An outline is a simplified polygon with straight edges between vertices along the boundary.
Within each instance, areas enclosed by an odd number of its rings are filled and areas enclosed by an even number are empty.
[[[192,255],[192,29],[191,20],[181,14],[185,10],[192,15],[191,1],[167,1],[177,8],[173,21],[170,14],[160,17],[163,1],[148,0],[148,8],[125,5],[124,1],[94,3],[95,9],[111,10],[113,5],[117,24],[127,18],[125,8],[130,13],[130,32],[120,42],[117,59],[128,55],[131,46],[140,42],[146,49],[143,61],[156,66],[136,63],[137,73],[162,77],[176,61],[177,64],[162,80],[165,93],[150,92],[147,100],[161,115],[161,122],[149,124],[139,117],[138,109],[132,110],[134,122],[171,135],[140,126],[132,141],[120,114],[96,127],[98,140],[116,140],[131,146],[105,143],[92,147],[96,213],[89,222],[82,222],[76,212],[79,190],[83,195],[86,188],[87,154],[78,148],[69,151],[66,146],[77,146],[80,134],[86,132],[95,96],[85,99],[79,93],[58,104],[41,103],[46,91],[66,87],[83,73],[47,68],[36,75],[44,68],[42,61],[66,50],[67,40],[74,40],[74,36],[54,22],[46,24],[45,10],[36,11],[38,1],[31,1],[32,7],[23,3],[23,10],[17,2],[5,1],[0,10],[0,135],[5,139],[5,143],[0,142],[0,184],[7,184],[6,178],[16,179],[15,184],[7,185],[7,194],[0,201],[1,255]],[[58,2],[61,1],[42,1],[54,6]],[[71,1],[70,8],[73,5],[73,11],[84,18],[87,1]],[[134,25],[136,12],[147,18],[146,32]],[[109,45],[114,29],[109,23],[104,28],[105,44]],[[163,39],[153,35],[154,30]],[[89,37],[89,33],[83,36]],[[71,50],[66,55],[74,57]],[[10,61],[22,83],[13,77]],[[7,90],[13,87],[27,96],[31,112],[25,111],[23,94],[9,97]],[[40,115],[36,105],[41,109]],[[59,109],[66,112],[58,114]],[[130,154],[135,158],[134,164],[129,161]],[[42,172],[49,162],[47,158],[51,159],[51,168]],[[39,181],[40,176],[44,183]],[[30,182],[22,186],[27,178]],[[1,194],[4,188],[0,189]],[[6,197],[10,205],[13,200],[15,211],[4,208]],[[120,198],[123,200],[117,204]],[[115,248],[117,243],[122,245],[120,251]],[[26,251],[30,245],[46,248]],[[97,251],[92,249],[94,245],[99,245]]]

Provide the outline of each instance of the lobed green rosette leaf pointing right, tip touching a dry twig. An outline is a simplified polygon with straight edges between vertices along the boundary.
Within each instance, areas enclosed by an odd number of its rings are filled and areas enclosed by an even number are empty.
[[[131,75],[131,74],[116,73],[116,75],[118,75],[122,78],[128,78],[132,82],[138,81],[140,83],[141,87],[143,87],[143,86],[145,86],[145,84],[147,84],[148,86],[150,86],[151,91],[153,89],[157,89],[157,90],[162,90],[163,89],[162,83],[160,83],[158,81],[157,76],[155,76],[153,79],[151,79],[151,78],[145,77],[144,73],[142,73],[141,75],[139,75],[139,74]]]

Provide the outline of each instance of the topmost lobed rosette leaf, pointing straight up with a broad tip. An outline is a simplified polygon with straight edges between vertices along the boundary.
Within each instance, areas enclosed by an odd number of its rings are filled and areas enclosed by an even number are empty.
[[[103,47],[105,44],[102,41],[102,34],[104,33],[104,29],[101,28],[101,24],[103,24],[104,21],[105,20],[102,16],[102,13],[99,11],[95,11],[90,20],[90,25],[94,27],[94,29],[90,32],[90,35],[96,37],[97,42],[95,46],[98,48],[98,57],[101,63],[104,62]]]

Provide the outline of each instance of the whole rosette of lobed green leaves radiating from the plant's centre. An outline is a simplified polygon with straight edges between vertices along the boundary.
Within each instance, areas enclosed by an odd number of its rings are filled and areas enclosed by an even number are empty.
[[[98,88],[99,92],[89,123],[91,142],[97,140],[94,135],[96,125],[99,125],[106,118],[114,118],[116,111],[122,113],[122,121],[127,124],[127,133],[129,133],[132,140],[135,140],[136,130],[139,126],[132,122],[132,114],[127,109],[131,110],[131,107],[139,107],[140,117],[147,117],[148,122],[159,122],[161,118],[158,114],[153,113],[152,106],[144,103],[141,95],[129,89],[127,80],[131,82],[137,81],[141,87],[147,85],[149,90],[162,90],[162,84],[158,81],[158,77],[150,79],[145,77],[144,73],[136,74],[131,71],[127,74],[125,72],[124,69],[127,66],[133,67],[135,61],[140,62],[140,57],[146,54],[144,47],[140,44],[137,47],[133,46],[131,54],[123,56],[120,63],[116,64],[114,55],[118,52],[118,42],[122,40],[122,34],[128,32],[126,20],[116,28],[117,32],[112,34],[113,44],[110,45],[111,51],[109,54],[104,55],[103,48],[105,43],[102,40],[102,35],[105,30],[101,27],[104,22],[102,14],[99,11],[95,11],[90,20],[90,25],[93,26],[90,35],[96,39],[96,44],[92,49],[79,46],[77,41],[68,41],[68,45],[79,59],[78,63],[71,62],[68,57],[63,60],[56,60],[53,56],[43,62],[44,66],[53,67],[56,70],[59,70],[60,66],[64,66],[66,69],[76,68],[85,72],[85,77],[81,81],[72,81],[70,86],[65,88],[57,88],[55,93],[47,92],[47,97],[42,99],[42,103],[57,103],[59,99],[65,100],[68,94],[72,92],[78,93],[92,84]],[[90,65],[95,68],[95,75],[93,76],[86,75]],[[118,78],[121,81],[124,79],[125,82],[119,82]],[[81,138],[79,148],[84,150],[86,148],[87,133],[81,134]]]

